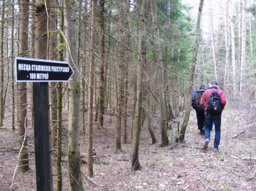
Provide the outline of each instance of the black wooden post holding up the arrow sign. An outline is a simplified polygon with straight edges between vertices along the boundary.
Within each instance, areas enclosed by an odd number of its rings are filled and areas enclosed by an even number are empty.
[[[36,190],[51,190],[48,82],[33,83]]]

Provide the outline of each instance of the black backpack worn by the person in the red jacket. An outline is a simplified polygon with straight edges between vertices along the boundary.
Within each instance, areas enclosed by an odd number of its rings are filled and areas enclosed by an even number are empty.
[[[212,94],[209,95],[207,108],[208,112],[213,116],[221,115],[222,104],[221,97],[220,95],[218,95],[218,90],[215,90],[214,92],[212,92]]]

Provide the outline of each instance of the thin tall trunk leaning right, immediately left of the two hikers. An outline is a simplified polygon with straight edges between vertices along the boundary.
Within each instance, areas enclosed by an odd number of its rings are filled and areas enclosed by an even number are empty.
[[[185,116],[183,120],[183,124],[181,125],[180,129],[180,135],[179,135],[179,141],[184,141],[185,138],[185,131],[188,125],[188,120],[189,120],[189,115],[191,111],[191,91],[192,91],[192,85],[193,81],[195,78],[195,68],[196,68],[196,57],[197,57],[197,50],[199,47],[199,40],[200,40],[200,35],[201,35],[201,14],[202,14],[202,9],[204,5],[204,0],[200,0],[200,5],[199,5],[199,11],[197,15],[197,23],[196,23],[196,43],[193,48],[193,57],[192,57],[192,65],[191,65],[191,75],[190,75],[190,80],[189,80],[189,88],[188,91],[185,92],[185,100],[186,100],[186,110],[185,110]],[[178,141],[178,140],[176,140]]]

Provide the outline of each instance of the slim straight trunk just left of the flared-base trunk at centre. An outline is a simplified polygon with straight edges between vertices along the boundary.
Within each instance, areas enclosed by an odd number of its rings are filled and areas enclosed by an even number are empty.
[[[118,82],[117,82],[117,126],[115,130],[115,153],[121,149],[121,125],[123,107],[123,1],[118,0]]]

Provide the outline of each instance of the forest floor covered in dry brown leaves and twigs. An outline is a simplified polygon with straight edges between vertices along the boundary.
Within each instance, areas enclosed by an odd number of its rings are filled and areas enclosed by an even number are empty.
[[[209,149],[202,149],[203,135],[199,134],[195,111],[191,111],[185,142],[175,143],[176,128],[168,130],[170,145],[160,147],[159,117],[152,117],[158,142],[151,145],[146,128],[142,128],[139,162],[142,170],[131,171],[131,124],[128,143],[122,144],[122,154],[114,154],[115,116],[106,116],[104,130],[94,125],[93,148],[96,162],[94,177],[86,177],[87,166],[81,165],[85,190],[256,190],[256,117],[255,109],[238,111],[226,108],[222,114],[219,152],[213,151],[214,128]],[[65,117],[64,117],[65,118]],[[181,119],[180,124],[182,124]],[[29,124],[29,123],[28,123]],[[64,119],[63,151],[67,147],[67,117]],[[29,126],[29,125],[28,125]],[[32,128],[28,128],[28,143],[34,145]],[[86,156],[86,141],[81,130],[81,155]],[[240,134],[240,135],[238,135]],[[234,138],[238,135],[236,138]],[[31,146],[31,150],[33,147]],[[30,168],[26,173],[15,167],[18,162],[18,130],[6,125],[0,129],[0,190],[36,190],[35,156],[30,153]],[[82,159],[86,161],[85,159]],[[53,174],[55,172],[53,159]],[[71,190],[67,157],[63,156],[63,190]],[[14,176],[15,174],[15,176]],[[53,177],[55,186],[56,176]]]

